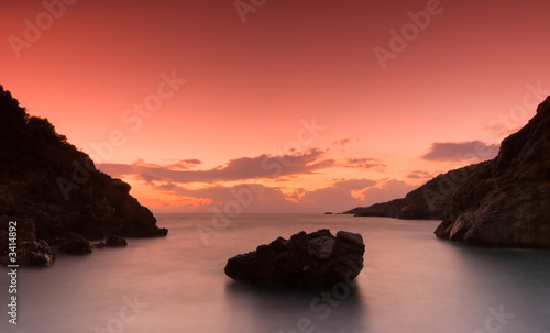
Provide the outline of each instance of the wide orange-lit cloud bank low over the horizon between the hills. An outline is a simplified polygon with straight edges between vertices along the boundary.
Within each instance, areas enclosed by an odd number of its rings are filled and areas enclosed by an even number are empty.
[[[344,141],[345,144],[345,141]],[[355,168],[384,173],[376,158],[328,158],[327,152],[310,148],[279,155],[239,157],[210,169],[197,169],[198,159],[148,164],[103,163],[98,168],[112,177],[142,181],[156,192],[180,198],[180,206],[163,203],[161,210],[208,211],[235,200],[239,193],[253,193],[248,212],[341,212],[359,206],[404,197],[417,186],[397,179],[332,179],[320,188],[283,186],[298,177],[327,173],[331,168]],[[238,181],[239,184],[234,184]],[[282,184],[275,186],[273,184]],[[245,196],[246,197],[246,196]],[[195,203],[189,204],[190,201]]]

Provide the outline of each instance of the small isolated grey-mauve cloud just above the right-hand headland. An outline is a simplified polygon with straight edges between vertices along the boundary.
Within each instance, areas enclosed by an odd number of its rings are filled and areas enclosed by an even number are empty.
[[[427,160],[482,162],[498,154],[498,144],[481,141],[432,143],[429,152],[422,156]]]

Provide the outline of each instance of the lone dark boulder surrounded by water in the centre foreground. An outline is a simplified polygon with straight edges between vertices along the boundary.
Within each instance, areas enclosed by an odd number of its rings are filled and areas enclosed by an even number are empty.
[[[334,237],[329,230],[302,231],[230,258],[226,274],[254,285],[327,289],[353,280],[363,269],[364,252],[360,234],[340,231]]]

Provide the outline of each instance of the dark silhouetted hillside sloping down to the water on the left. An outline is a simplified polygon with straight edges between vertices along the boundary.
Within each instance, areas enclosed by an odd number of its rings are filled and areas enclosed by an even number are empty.
[[[98,169],[90,157],[31,116],[0,86],[0,262],[8,264],[9,226],[16,222],[20,265],[47,266],[56,253],[91,252],[89,240],[123,246],[121,237],[165,236],[166,229],[130,185]],[[101,244],[101,243],[100,243]]]

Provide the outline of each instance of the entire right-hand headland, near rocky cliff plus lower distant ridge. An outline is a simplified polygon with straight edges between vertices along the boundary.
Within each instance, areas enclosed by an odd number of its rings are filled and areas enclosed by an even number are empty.
[[[550,97],[495,158],[439,175],[405,198],[344,213],[442,220],[435,231],[440,238],[550,248]]]

